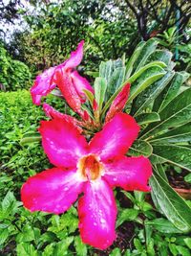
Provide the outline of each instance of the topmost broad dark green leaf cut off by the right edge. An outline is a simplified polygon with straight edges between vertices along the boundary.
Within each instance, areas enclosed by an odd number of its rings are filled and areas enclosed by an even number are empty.
[[[178,127],[191,121],[191,88],[180,93],[160,112],[160,122],[151,124],[141,138],[153,138],[168,128]]]

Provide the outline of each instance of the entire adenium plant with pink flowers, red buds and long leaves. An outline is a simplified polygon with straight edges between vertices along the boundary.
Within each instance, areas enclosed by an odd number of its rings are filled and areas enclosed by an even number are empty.
[[[92,86],[76,71],[83,45],[32,86],[33,104],[57,88],[74,112],[43,103],[50,120],[41,121],[41,136],[23,138],[40,139],[54,166],[23,185],[24,206],[61,214],[78,198],[82,241],[105,249],[116,239],[112,190],[151,191],[159,213],[189,232],[191,209],[163,169],[170,164],[191,171],[191,88],[184,84],[189,75],[176,72],[172,54],[158,50],[152,38],[140,42],[128,60],[101,62]]]

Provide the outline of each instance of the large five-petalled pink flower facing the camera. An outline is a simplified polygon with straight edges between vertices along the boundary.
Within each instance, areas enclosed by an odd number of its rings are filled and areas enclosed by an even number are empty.
[[[42,146],[56,166],[28,179],[21,190],[31,211],[60,214],[78,200],[79,231],[83,243],[105,249],[116,239],[117,205],[112,189],[149,191],[150,161],[127,157],[138,136],[133,117],[117,113],[88,143],[71,122],[42,121]]]

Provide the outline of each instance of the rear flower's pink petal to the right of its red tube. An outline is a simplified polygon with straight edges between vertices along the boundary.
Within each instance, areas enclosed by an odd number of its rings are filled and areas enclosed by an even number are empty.
[[[75,90],[80,96],[81,103],[85,103],[86,95],[84,94],[83,90],[86,89],[91,91],[92,93],[95,93],[93,87],[90,85],[89,81],[81,77],[77,71],[72,72],[71,77],[73,79]]]

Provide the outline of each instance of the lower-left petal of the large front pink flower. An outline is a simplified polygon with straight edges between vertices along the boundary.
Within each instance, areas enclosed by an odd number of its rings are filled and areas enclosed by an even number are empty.
[[[22,186],[21,199],[32,212],[60,214],[71,207],[82,188],[76,171],[53,168],[30,177]]]

